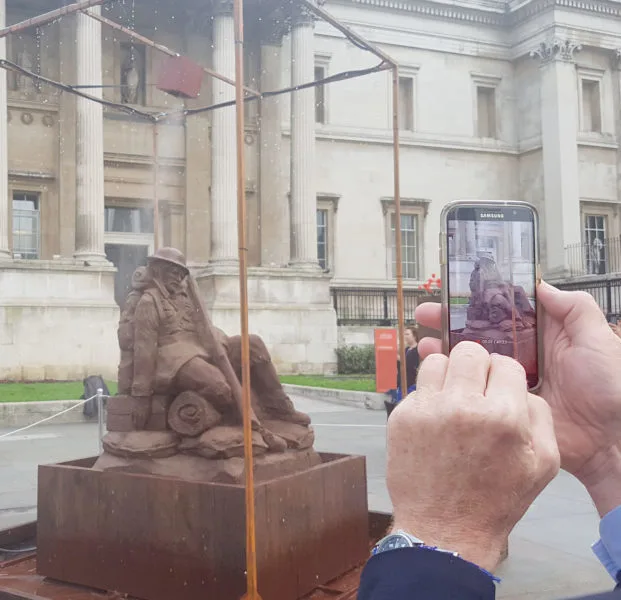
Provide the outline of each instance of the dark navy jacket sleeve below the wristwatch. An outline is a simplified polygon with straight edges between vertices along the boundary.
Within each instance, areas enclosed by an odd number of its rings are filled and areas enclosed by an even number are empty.
[[[373,556],[358,600],[494,600],[496,586],[478,567],[451,554],[418,548]]]

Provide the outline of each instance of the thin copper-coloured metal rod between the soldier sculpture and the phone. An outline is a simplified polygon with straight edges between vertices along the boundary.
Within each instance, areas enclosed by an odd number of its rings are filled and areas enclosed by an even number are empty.
[[[401,172],[399,148],[399,66],[392,69],[392,132],[395,177],[395,253],[397,262],[397,320],[399,333],[399,360],[401,361],[401,394],[408,393],[407,365],[405,364],[405,311],[403,306],[403,253],[401,247]]]

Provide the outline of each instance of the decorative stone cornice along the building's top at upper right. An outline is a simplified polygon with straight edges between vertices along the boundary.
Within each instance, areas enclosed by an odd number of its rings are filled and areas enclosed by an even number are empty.
[[[621,19],[621,3],[609,0],[530,0],[511,9],[502,3],[490,6],[482,0],[479,7],[449,5],[427,0],[333,0],[340,4],[357,4],[369,8],[410,12],[436,19],[466,21],[494,27],[510,28],[555,7],[595,13]]]

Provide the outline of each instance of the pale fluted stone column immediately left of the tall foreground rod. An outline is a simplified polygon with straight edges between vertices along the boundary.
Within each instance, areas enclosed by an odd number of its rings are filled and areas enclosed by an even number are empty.
[[[235,79],[235,26],[232,0],[216,0],[213,17],[213,69]],[[213,103],[235,100],[235,88],[213,79]],[[211,262],[235,266],[237,250],[237,151],[235,107],[212,113]]]

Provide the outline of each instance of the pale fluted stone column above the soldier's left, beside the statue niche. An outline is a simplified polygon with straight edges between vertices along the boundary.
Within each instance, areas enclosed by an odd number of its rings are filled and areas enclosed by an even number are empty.
[[[91,8],[93,12],[100,9]],[[76,81],[92,86],[88,92],[102,97],[101,24],[78,13]],[[76,250],[75,257],[106,262],[104,251],[104,148],[103,109],[86,98],[76,100]]]

